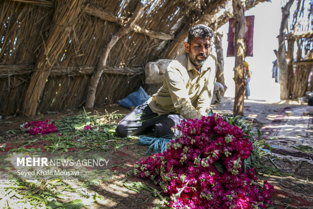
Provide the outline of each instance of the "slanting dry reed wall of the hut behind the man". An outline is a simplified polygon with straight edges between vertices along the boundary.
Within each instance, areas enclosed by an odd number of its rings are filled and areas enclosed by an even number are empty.
[[[183,53],[190,26],[226,23],[229,2],[2,0],[0,115],[116,103],[145,87],[146,63]]]

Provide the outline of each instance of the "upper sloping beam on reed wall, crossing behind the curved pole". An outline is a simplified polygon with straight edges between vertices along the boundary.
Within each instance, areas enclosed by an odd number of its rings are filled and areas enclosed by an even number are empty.
[[[114,14],[112,14],[109,11],[106,11],[98,6],[95,5],[87,5],[84,8],[84,13],[88,14],[88,15],[92,15],[94,17],[98,17],[102,20],[106,20],[106,21],[110,21],[110,22],[115,22],[119,25],[121,25],[122,27],[125,26],[126,22],[128,21],[127,18],[125,17],[116,17]],[[148,30],[145,29],[139,25],[133,24],[130,28],[130,30],[133,30],[137,33],[142,33],[145,35],[148,35],[150,37],[154,37],[154,38],[158,38],[161,40],[172,40],[174,39],[173,35],[164,33],[164,32],[157,32],[157,31],[152,31],[152,30]]]

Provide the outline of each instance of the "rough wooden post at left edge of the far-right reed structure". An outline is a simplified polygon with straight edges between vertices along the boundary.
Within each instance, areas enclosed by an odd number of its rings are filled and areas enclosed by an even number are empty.
[[[278,35],[278,66],[279,66],[279,83],[280,83],[280,99],[288,99],[288,64],[286,60],[285,46],[285,30],[288,27],[288,17],[290,15],[290,7],[294,0],[290,0],[285,7],[282,8],[282,21],[280,23]]]

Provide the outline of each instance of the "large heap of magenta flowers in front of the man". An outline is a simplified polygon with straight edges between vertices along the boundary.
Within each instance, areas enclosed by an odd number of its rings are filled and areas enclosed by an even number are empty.
[[[273,186],[260,185],[244,171],[252,143],[242,130],[217,114],[187,120],[167,151],[136,162],[134,174],[152,180],[170,195],[173,208],[266,208]]]

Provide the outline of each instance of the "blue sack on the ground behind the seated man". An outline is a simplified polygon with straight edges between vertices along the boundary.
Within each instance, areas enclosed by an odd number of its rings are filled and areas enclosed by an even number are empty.
[[[143,90],[142,87],[139,88],[137,92],[133,92],[129,94],[127,97],[125,97],[122,100],[119,100],[118,103],[122,107],[131,108],[131,107],[137,107],[147,101],[149,99],[149,96],[147,93]]]

